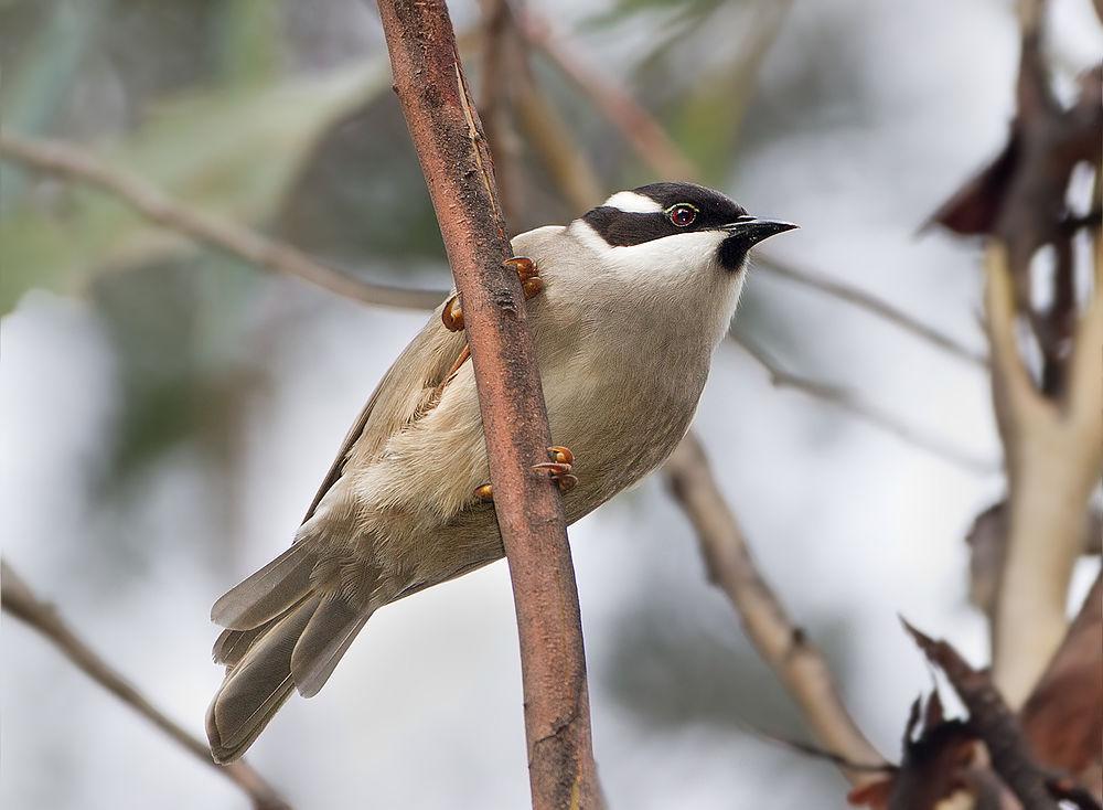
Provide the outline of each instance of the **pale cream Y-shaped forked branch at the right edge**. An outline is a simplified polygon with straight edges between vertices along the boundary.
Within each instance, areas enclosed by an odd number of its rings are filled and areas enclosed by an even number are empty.
[[[1016,340],[1015,288],[1003,245],[985,262],[993,402],[1008,477],[1007,556],[993,622],[993,679],[1017,708],[1068,628],[1065,601],[1092,490],[1103,468],[1103,257],[1080,318],[1063,402],[1034,384]]]

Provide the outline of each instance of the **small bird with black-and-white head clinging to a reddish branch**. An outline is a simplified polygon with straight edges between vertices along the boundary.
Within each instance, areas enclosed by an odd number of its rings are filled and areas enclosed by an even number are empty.
[[[512,239],[559,443],[533,467],[558,482],[568,523],[686,435],[748,252],[794,227],[660,182]],[[292,692],[315,695],[381,607],[504,556],[462,315],[453,290],[384,374],[290,548],[212,608],[215,761],[240,757]]]

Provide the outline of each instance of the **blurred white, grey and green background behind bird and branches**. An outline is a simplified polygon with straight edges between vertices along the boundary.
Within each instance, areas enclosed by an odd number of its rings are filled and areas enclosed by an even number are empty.
[[[1052,0],[1067,76],[1088,0]],[[587,70],[661,120],[699,177],[800,223],[771,255],[891,301],[977,352],[978,248],[930,213],[1003,145],[1008,0],[533,0]],[[476,88],[480,9],[450,3]],[[343,271],[449,285],[373,3],[0,0],[6,130],[77,142]],[[576,83],[532,70],[600,196],[660,179]],[[495,145],[496,146],[496,145]],[[516,231],[582,213],[510,140]],[[365,307],[197,246],[116,200],[4,162],[3,554],[89,643],[202,735],[212,601],[291,540],[366,396],[426,315]],[[988,377],[884,321],[754,273],[737,330],[953,457],[721,345],[697,428],[763,574],[888,755],[931,674],[903,615],[987,657],[964,535],[1004,490]],[[800,715],[706,580],[661,479],[570,532],[595,747],[612,807],[843,807]],[[1096,563],[1078,572],[1082,595]],[[7,808],[242,808],[210,768],[4,617]],[[496,564],[377,614],[324,692],[249,754],[298,808],[528,803],[510,579]]]

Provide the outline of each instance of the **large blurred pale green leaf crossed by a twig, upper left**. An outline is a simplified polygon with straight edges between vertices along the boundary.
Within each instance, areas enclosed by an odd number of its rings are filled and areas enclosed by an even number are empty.
[[[190,94],[159,105],[101,154],[207,214],[264,222],[318,138],[386,86],[385,66],[376,63],[259,88]],[[56,202],[26,202],[0,221],[2,311],[29,287],[73,288],[107,269],[163,260],[188,246],[103,194],[72,190]]]

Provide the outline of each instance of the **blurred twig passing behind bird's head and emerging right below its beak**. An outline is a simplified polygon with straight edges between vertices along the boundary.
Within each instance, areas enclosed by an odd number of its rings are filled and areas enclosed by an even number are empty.
[[[550,24],[546,20],[529,12],[524,18],[523,31],[528,41],[542,49],[548,58],[592,100],[639,158],[657,175],[685,180],[700,179],[700,169],[666,135],[654,116],[612,81],[607,72],[599,72],[580,58],[569,44],[565,43],[561,34],[552,32]],[[768,249],[760,249],[757,255],[767,271],[864,309],[953,356],[981,366],[986,365],[983,355],[860,288],[852,287],[821,273],[793,267],[790,263],[773,256]]]

